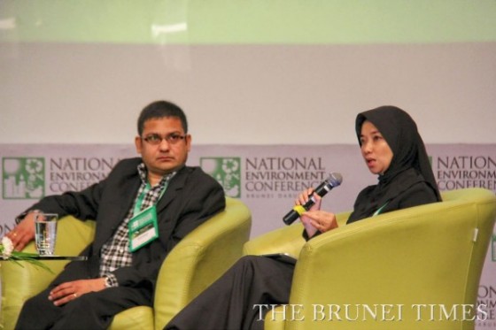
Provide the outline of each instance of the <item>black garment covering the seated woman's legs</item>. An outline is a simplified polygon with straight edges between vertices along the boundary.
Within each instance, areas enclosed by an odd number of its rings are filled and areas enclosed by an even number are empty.
[[[272,258],[242,257],[164,330],[263,329],[267,309],[257,305],[288,303],[293,272],[294,265]]]

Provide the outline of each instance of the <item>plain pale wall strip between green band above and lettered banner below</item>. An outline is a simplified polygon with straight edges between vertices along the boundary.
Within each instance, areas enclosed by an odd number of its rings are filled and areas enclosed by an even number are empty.
[[[494,143],[496,43],[0,47],[0,143],[128,143],[145,104],[181,105],[201,144],[355,143],[394,104],[428,143]]]

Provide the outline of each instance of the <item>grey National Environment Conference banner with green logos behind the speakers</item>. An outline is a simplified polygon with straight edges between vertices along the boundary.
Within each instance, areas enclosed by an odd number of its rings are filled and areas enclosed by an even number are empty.
[[[496,145],[432,144],[427,147],[441,190],[481,187],[496,191]],[[0,235],[13,219],[43,196],[81,190],[105,179],[113,165],[136,157],[124,144],[0,144],[2,185]],[[342,184],[322,200],[322,209],[353,208],[361,188],[376,182],[357,145],[194,145],[189,165],[201,166],[252,211],[252,237],[285,226],[298,193],[316,187],[329,173],[340,173]],[[488,249],[481,278],[479,304],[486,319],[477,328],[496,327],[496,235]]]

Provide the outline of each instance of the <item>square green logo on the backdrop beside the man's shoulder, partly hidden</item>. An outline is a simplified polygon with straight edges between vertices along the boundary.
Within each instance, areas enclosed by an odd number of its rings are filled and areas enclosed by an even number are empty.
[[[200,166],[221,184],[226,196],[241,197],[241,158],[200,157]]]

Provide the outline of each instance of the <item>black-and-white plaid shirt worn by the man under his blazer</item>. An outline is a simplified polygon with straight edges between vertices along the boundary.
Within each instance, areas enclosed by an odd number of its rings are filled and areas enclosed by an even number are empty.
[[[138,193],[136,194],[135,202],[131,205],[128,215],[120,223],[120,226],[117,228],[115,234],[113,234],[113,236],[100,250],[100,257],[102,259],[100,262],[100,276],[106,276],[111,287],[117,287],[119,285],[115,275],[113,275],[112,272],[120,267],[132,265],[133,261],[133,255],[129,251],[128,223],[129,220],[133,218],[138,197],[143,194],[143,191],[145,191],[147,186],[147,170],[143,163],[138,165],[138,173],[141,179],[141,185],[138,189]],[[167,181],[170,180],[174,174],[175,173],[165,175],[157,185],[151,187],[143,198],[140,211],[143,211],[159,201],[159,196],[162,189],[166,186]]]

